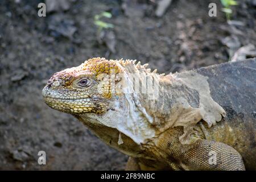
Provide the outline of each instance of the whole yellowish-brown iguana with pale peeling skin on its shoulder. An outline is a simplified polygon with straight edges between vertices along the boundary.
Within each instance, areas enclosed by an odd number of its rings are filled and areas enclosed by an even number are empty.
[[[135,62],[57,72],[44,101],[129,155],[127,170],[256,169],[256,59],[168,75]]]

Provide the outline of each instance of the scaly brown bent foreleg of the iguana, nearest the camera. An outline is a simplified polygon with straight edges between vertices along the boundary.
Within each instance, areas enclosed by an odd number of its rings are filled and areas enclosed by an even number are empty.
[[[245,170],[241,155],[227,144],[199,139],[184,147],[180,166],[187,170]]]

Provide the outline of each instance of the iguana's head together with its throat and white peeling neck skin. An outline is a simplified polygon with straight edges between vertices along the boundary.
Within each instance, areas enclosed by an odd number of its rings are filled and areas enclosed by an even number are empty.
[[[42,91],[44,101],[53,109],[75,115],[107,144],[129,146],[128,141],[139,145],[154,137],[155,131],[150,126],[152,118],[135,95],[124,92],[127,73],[138,71],[134,68],[130,60],[89,59],[55,73]]]

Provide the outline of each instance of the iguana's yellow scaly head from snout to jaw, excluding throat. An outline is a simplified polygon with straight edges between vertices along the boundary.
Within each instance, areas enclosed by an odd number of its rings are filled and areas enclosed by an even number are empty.
[[[42,91],[46,104],[69,114],[106,113],[113,94],[110,71],[122,72],[114,60],[89,59],[79,67],[55,73]]]

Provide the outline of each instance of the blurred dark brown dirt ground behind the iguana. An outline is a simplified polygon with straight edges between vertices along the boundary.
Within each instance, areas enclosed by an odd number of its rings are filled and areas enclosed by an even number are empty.
[[[164,73],[183,71],[223,63],[232,51],[256,43],[253,0],[238,1],[233,25],[218,0],[174,0],[161,17],[155,16],[156,1],[73,0],[46,17],[38,16],[40,2],[0,1],[2,170],[125,168],[126,155],[106,146],[72,115],[44,104],[41,90],[53,73],[96,56],[137,59]],[[217,4],[217,17],[208,16],[210,2]],[[104,20],[114,28],[100,44],[94,16],[104,11],[112,13]],[[41,150],[47,165],[38,164]]]

